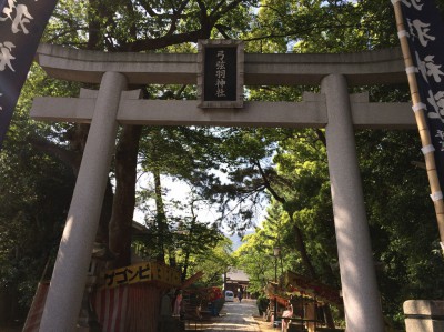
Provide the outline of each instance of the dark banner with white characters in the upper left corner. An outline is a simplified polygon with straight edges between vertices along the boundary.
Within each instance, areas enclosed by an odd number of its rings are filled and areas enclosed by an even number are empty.
[[[0,149],[57,0],[0,0]]]

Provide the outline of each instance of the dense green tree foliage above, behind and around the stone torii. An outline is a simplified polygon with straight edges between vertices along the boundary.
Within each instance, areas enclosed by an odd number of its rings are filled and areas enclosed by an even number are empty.
[[[61,0],[44,34],[46,42],[108,52],[195,52],[205,38],[242,39],[248,52],[264,53],[398,43],[387,0]],[[40,94],[75,97],[79,88],[33,67],[0,152],[0,301],[7,294],[23,312],[57,252],[89,129],[31,121],[30,103]],[[131,88],[145,99],[195,98],[195,87]],[[319,87],[252,85],[245,98],[300,101],[303,91]],[[351,92],[362,91],[375,102],[410,100],[406,85]],[[418,138],[416,131],[357,131],[356,149],[383,311],[400,326],[403,301],[440,299],[444,290]],[[204,282],[214,284],[234,263],[222,227],[254,230],[234,255],[250,274],[250,290],[260,293],[275,269],[339,288],[326,158],[323,130],[123,125],[97,241],[118,254],[115,266],[130,263],[133,244],[145,259],[180,264],[183,279],[212,271]],[[186,183],[189,199],[172,200],[167,179]],[[137,237],[134,207],[147,225]],[[276,245],[279,260],[270,256]]]

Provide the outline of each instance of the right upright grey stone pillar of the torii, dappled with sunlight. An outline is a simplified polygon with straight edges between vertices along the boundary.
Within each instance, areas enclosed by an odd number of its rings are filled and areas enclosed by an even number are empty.
[[[325,77],[321,90],[327,108],[326,150],[346,330],[382,332],[382,308],[345,77]]]

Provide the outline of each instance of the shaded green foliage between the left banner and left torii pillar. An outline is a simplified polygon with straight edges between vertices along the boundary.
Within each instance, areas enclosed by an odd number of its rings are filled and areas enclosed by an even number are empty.
[[[29,143],[36,141],[36,133],[58,140],[54,131],[63,132],[62,125],[51,129],[28,119],[31,91],[69,94],[78,90],[77,84],[44,79],[34,67],[0,153],[0,293],[8,301],[6,316],[0,313],[2,323],[26,314],[36,284],[57,252],[75,180],[58,158]]]

